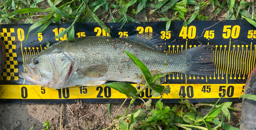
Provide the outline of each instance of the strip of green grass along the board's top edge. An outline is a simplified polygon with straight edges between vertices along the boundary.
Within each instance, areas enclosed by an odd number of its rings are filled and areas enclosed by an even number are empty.
[[[256,26],[256,23],[252,21],[255,18],[254,10],[252,10],[254,3],[244,0],[240,2],[234,0],[227,2],[217,0],[205,2],[195,0],[48,0],[49,8],[39,9],[38,4],[42,1],[2,1],[0,23],[11,24],[13,20],[23,19],[24,23],[33,23],[29,32],[42,25],[34,35],[44,31],[49,23],[72,23],[70,27],[55,37],[59,38],[68,33],[67,40],[69,41],[74,40],[73,25],[76,22],[97,22],[102,29],[109,33],[109,29],[104,23],[107,18],[111,19],[110,22],[122,22],[123,26],[126,22],[139,23],[137,18],[140,13],[144,22],[151,21],[155,16],[160,21],[166,21],[166,31],[169,29],[171,21],[183,20],[186,26],[193,20],[211,20],[221,11],[225,12],[225,20],[246,19]],[[211,16],[204,16],[204,12],[209,8],[212,8],[214,13]],[[44,16],[39,15],[39,12],[50,13]]]

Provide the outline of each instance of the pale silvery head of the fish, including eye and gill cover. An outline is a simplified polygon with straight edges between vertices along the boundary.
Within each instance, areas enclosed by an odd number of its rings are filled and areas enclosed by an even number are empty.
[[[19,72],[19,76],[34,84],[62,88],[71,78],[73,63],[60,50],[41,51],[23,63],[27,72]]]

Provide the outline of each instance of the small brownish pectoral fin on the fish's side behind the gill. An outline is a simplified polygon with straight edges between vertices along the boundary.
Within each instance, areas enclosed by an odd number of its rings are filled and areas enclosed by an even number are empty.
[[[91,65],[89,67],[79,70],[79,72],[87,77],[102,77],[108,71],[106,65]]]

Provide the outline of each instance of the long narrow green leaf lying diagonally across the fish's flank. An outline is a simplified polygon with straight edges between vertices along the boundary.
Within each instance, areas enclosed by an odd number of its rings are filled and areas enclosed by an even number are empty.
[[[140,72],[143,75],[146,82],[149,81],[149,79],[152,76],[150,73],[150,70],[148,70],[147,67],[134,55],[132,55],[131,53],[129,53],[125,50],[123,50],[123,51],[132,59],[133,63],[140,69]]]

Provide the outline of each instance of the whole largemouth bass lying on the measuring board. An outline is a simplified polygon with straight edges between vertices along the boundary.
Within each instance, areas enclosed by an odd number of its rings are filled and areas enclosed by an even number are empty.
[[[166,61],[167,68],[161,73],[208,76],[215,72],[213,45],[201,45],[168,54],[160,51],[161,39],[156,37],[86,36],[74,41],[61,41],[24,62],[23,67],[27,72],[20,72],[19,76],[34,84],[55,89],[95,86],[106,81],[139,83],[137,74],[141,73],[123,50],[135,55],[152,71],[164,69]]]

